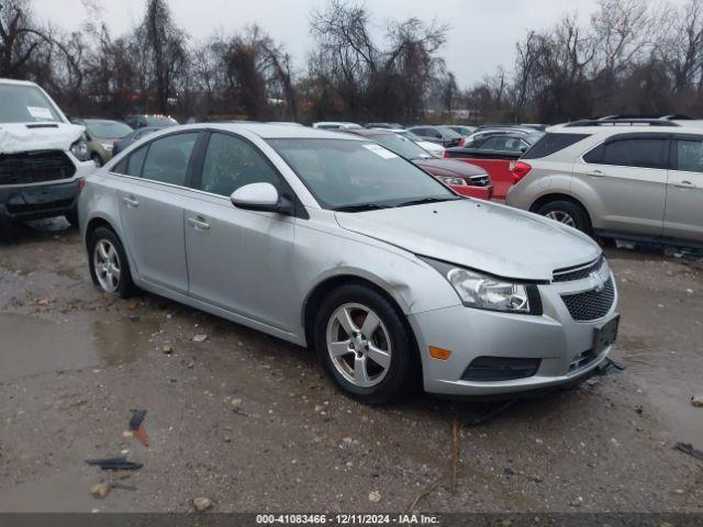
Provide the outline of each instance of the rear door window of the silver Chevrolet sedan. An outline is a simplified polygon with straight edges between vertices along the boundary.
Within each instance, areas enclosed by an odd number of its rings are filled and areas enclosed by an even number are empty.
[[[186,184],[188,161],[198,141],[198,134],[176,134],[150,143],[142,177],[169,184]]]

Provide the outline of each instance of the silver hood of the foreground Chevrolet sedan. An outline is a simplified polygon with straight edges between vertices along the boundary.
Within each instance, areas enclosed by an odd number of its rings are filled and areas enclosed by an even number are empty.
[[[555,269],[601,254],[591,238],[571,227],[477,200],[338,212],[336,220],[342,228],[416,255],[518,280],[551,280]]]

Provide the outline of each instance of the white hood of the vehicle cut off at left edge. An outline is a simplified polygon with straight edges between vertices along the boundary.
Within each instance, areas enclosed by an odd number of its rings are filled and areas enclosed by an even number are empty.
[[[0,123],[0,154],[68,150],[85,130],[68,123]]]

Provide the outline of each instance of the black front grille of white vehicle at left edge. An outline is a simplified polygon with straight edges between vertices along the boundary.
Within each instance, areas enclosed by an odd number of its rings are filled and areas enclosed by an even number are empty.
[[[29,184],[72,178],[76,167],[60,150],[0,155],[0,184]]]

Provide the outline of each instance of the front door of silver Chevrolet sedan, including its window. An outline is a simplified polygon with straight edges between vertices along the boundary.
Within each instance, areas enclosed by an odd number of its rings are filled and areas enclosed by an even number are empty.
[[[230,133],[210,135],[197,173],[182,224],[190,295],[290,333],[300,324],[295,218],[237,209],[231,195],[259,182],[274,184],[281,194],[292,192],[254,144]]]

